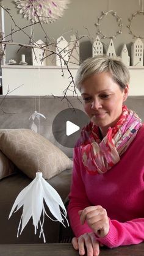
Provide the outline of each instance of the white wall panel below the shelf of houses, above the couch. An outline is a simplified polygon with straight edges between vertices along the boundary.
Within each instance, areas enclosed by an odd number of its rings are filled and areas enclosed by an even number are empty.
[[[62,77],[60,67],[21,67],[2,66],[3,94],[12,91],[10,95],[63,95],[67,89],[70,74],[67,68],[63,67],[65,78]],[[70,68],[73,77],[77,68]],[[129,85],[129,95],[144,95],[144,67],[129,67],[131,81]],[[23,86],[21,86],[23,84]],[[16,87],[20,88],[14,90]],[[78,90],[77,93],[79,94]],[[67,95],[73,95],[73,84]]]

